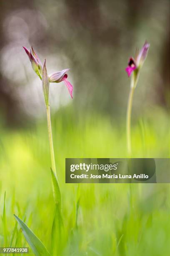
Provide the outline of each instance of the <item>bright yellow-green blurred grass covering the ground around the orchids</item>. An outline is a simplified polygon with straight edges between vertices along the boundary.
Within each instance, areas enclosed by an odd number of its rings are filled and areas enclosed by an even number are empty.
[[[46,120],[1,128],[0,246],[28,246],[15,214],[54,256],[170,255],[169,184],[65,184],[66,157],[127,157],[125,123],[65,108],[53,115],[52,130],[62,212],[53,199]],[[133,120],[132,136],[133,157],[170,157],[162,109]]]

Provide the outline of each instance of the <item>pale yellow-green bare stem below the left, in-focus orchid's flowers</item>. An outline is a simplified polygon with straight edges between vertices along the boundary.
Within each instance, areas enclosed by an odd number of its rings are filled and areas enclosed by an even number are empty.
[[[53,172],[56,173],[55,156],[54,156],[54,147],[53,147],[53,141],[52,141],[52,128],[51,128],[51,118],[50,118],[50,105],[47,105],[47,126],[48,126],[48,138],[49,138],[49,143],[50,143],[51,165],[52,165],[52,170],[53,170]]]

